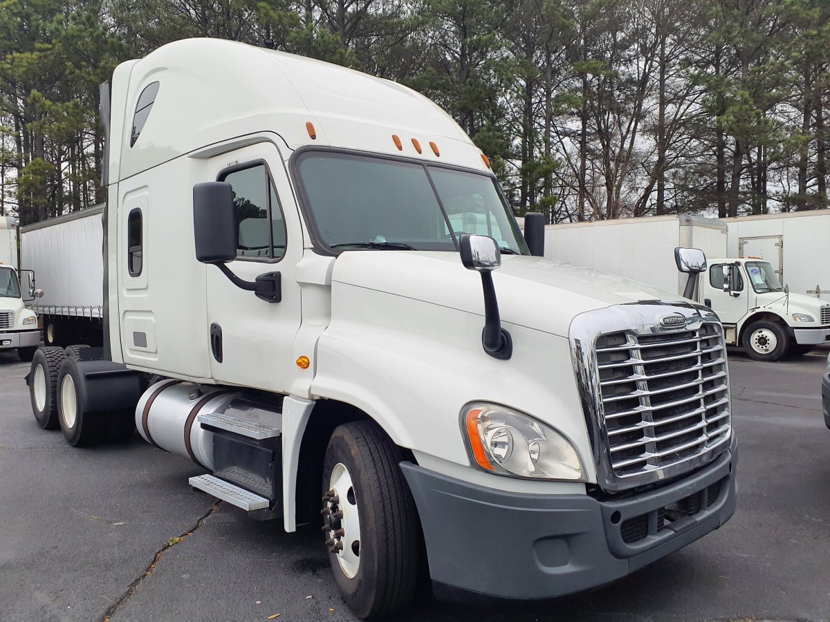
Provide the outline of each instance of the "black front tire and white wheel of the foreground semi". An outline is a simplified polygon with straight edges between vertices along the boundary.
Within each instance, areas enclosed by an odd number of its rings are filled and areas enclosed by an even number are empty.
[[[353,421],[331,435],[323,464],[323,520],[334,578],[361,619],[413,599],[417,582],[415,503],[403,459],[378,425]]]

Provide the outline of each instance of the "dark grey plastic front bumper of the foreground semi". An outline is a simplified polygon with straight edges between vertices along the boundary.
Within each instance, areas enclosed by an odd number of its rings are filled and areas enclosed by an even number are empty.
[[[735,513],[737,445],[685,479],[620,501],[507,493],[401,468],[436,595],[541,599],[601,586],[714,531]],[[674,513],[673,522],[666,515]]]

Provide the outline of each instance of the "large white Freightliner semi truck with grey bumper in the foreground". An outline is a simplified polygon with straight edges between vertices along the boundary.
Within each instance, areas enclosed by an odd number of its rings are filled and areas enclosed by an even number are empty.
[[[105,347],[37,353],[40,425],[134,422],[193,488],[315,522],[364,618],[419,568],[439,596],[551,597],[730,518],[715,315],[538,256],[435,104],[209,39],[102,89]]]

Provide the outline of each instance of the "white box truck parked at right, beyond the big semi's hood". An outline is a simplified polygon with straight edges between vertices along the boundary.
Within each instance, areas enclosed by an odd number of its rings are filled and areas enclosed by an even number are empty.
[[[685,214],[549,226],[545,249],[549,257],[675,289],[706,305],[723,323],[727,345],[759,361],[830,342],[830,304],[785,287],[780,268],[761,256],[728,255],[732,226]],[[694,289],[686,290],[685,277],[677,280],[676,247],[696,247],[709,258]]]

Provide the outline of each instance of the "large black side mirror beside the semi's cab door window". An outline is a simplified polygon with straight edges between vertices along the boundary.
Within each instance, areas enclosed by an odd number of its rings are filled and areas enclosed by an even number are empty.
[[[237,258],[231,184],[193,186],[193,237],[196,259],[203,264],[224,264]]]

